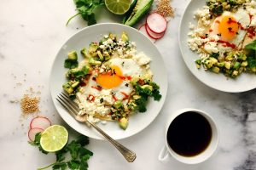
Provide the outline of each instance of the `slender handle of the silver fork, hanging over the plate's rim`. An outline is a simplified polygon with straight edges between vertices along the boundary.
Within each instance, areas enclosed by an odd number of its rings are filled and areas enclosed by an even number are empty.
[[[95,127],[99,133],[101,133],[106,139],[108,139],[108,141],[113,144],[116,149],[119,150],[119,152],[125,157],[127,161],[132,162],[136,159],[136,154],[133,151],[127,149],[124,145],[119,144],[118,141],[108,136],[108,134],[104,133],[100,127],[96,126],[95,123],[89,121],[86,122],[88,122],[92,127]]]

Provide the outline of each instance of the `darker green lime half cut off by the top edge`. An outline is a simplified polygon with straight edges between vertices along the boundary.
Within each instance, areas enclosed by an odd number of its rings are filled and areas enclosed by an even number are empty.
[[[125,14],[131,6],[131,0],[105,0],[105,4],[113,14]]]

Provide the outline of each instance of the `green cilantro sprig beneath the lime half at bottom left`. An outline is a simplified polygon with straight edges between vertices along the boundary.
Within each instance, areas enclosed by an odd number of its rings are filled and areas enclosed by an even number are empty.
[[[44,151],[41,147],[40,138],[41,133],[37,133],[35,140],[33,142],[29,142],[29,144],[37,146],[41,152],[48,154],[48,152]],[[89,144],[89,138],[87,136],[80,135],[78,139],[72,140],[64,148],[55,152],[56,161],[54,163],[46,167],[38,168],[38,170],[44,170],[49,167],[52,167],[53,170],[65,170],[67,167],[72,170],[87,170],[89,167],[87,161],[90,159],[90,156],[93,156],[93,153],[90,150],[84,148],[87,144]],[[71,159],[68,160],[67,155],[70,155]]]

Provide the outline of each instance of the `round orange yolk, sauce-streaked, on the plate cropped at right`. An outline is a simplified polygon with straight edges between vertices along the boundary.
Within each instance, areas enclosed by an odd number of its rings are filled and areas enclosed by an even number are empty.
[[[230,42],[236,37],[239,25],[234,17],[224,16],[218,24],[218,34],[223,41]]]

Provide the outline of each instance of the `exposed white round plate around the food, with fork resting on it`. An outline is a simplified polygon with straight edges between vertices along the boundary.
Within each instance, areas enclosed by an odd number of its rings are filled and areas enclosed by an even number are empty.
[[[103,137],[93,128],[76,122],[73,117],[70,116],[59,103],[57,103],[55,99],[57,94],[60,94],[62,91],[62,84],[67,81],[65,78],[67,69],[65,69],[63,66],[64,60],[67,59],[67,53],[70,50],[74,49],[79,52],[81,48],[89,47],[90,42],[98,42],[103,35],[108,34],[109,32],[120,35],[122,31],[126,31],[130,40],[137,43],[137,51],[143,51],[152,59],[150,67],[154,73],[154,82],[157,82],[160,85],[160,94],[162,94],[162,98],[159,102],[150,99],[147,105],[148,111],[131,116],[129,126],[126,130],[122,130],[117,122],[108,122],[106,125],[98,123],[99,127],[108,133],[113,139],[125,139],[130,137],[131,135],[139,133],[154,121],[154,118],[159,114],[166,99],[168,86],[167,71],[161,54],[154,46],[153,42],[150,42],[150,40],[140,31],[137,31],[129,26],[119,24],[97,24],[95,26],[84,28],[83,30],[74,34],[73,37],[70,37],[56,55],[50,74],[50,93],[55,108],[64,121],[79,133],[93,139],[103,139]],[[82,57],[79,59],[82,59]]]

